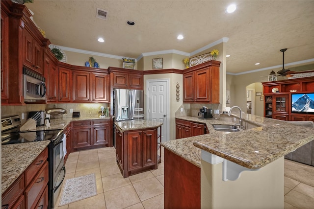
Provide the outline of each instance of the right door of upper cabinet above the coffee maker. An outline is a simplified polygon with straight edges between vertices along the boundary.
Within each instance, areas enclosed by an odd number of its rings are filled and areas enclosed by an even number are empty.
[[[209,102],[209,70],[197,70],[195,76],[195,101]]]

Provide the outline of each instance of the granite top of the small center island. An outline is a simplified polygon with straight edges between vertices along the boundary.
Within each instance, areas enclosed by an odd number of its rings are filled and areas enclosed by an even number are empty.
[[[157,128],[162,125],[161,122],[151,121],[151,120],[123,120],[116,121],[115,125],[121,131],[131,131],[146,128]]]

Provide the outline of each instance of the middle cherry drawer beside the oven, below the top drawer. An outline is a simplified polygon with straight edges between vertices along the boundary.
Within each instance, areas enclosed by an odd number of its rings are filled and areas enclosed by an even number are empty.
[[[33,209],[48,184],[48,161],[25,190],[26,209]]]

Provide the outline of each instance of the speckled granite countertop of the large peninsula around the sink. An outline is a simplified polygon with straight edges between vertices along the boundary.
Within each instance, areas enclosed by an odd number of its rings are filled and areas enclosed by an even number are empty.
[[[191,116],[176,117],[206,124],[209,134],[170,140],[161,145],[198,167],[203,149],[241,166],[257,169],[314,139],[313,128],[251,114],[242,114],[242,120],[250,129],[232,133],[215,131],[212,124],[234,124],[239,118],[236,115],[220,116],[211,120]]]

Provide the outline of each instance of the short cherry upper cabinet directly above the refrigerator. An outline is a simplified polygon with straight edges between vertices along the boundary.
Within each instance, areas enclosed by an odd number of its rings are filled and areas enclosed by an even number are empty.
[[[110,84],[113,89],[139,89],[144,88],[144,76],[141,70],[122,68],[108,68]]]

